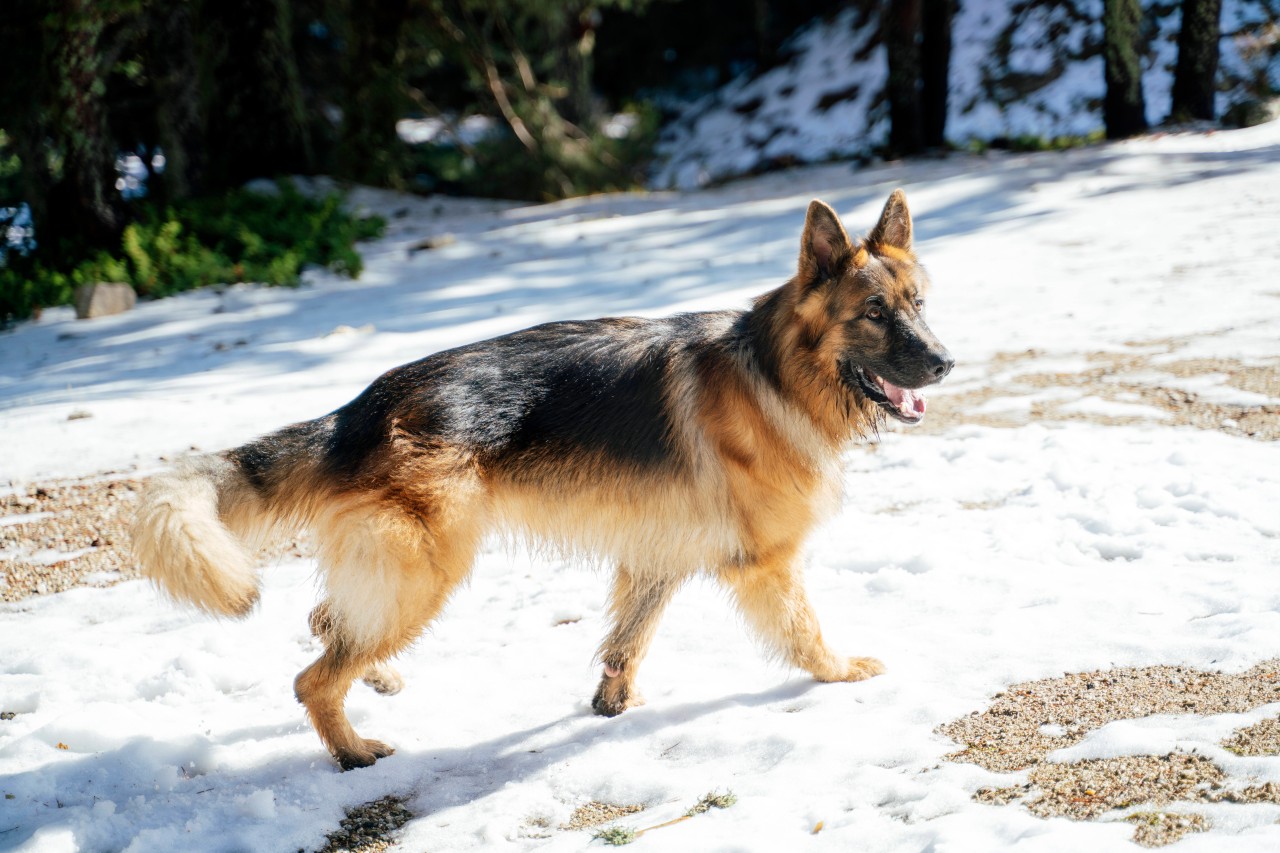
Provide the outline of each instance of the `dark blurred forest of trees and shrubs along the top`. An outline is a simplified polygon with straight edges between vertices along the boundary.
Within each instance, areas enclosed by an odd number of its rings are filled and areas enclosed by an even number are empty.
[[[1142,65],[1160,33],[1176,40],[1160,114],[1261,120],[1275,95],[1280,3],[1257,1],[1261,14],[1231,24],[1262,70],[1224,110],[1221,93],[1242,83],[1219,69],[1222,1],[8,0],[0,323],[68,304],[91,282],[163,296],[293,284],[307,264],[358,274],[352,246],[380,222],[355,218],[338,196],[255,179],[324,174],[527,200],[643,188],[664,127],[731,81],[792,61],[797,29],[851,8],[873,22],[864,50],[883,47],[887,65],[867,101],[888,128],[877,156],[972,147],[947,128],[952,22],[970,3],[1007,13],[989,35],[1006,59],[1027,47],[1018,26],[1036,13],[1048,22],[1037,24],[1042,53],[1064,50],[1073,26],[1092,27],[1070,51],[1102,58],[1094,100],[1107,137],[1149,127]],[[982,82],[1001,102],[1065,69],[1005,64]],[[1064,143],[992,136],[983,145]]]

